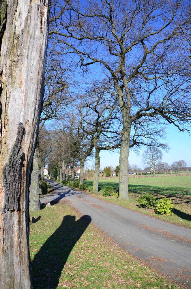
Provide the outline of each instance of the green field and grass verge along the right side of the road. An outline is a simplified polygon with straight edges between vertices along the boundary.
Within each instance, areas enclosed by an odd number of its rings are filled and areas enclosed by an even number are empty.
[[[84,183],[90,186],[93,185],[93,180],[84,180]],[[100,178],[98,190],[100,191],[105,186],[112,186],[119,191],[119,178]],[[162,196],[171,198],[174,205],[173,215],[158,215],[154,208],[139,208],[138,198],[145,193],[152,194],[156,198],[162,198]],[[98,192],[95,196],[154,218],[191,228],[191,175],[130,178],[129,202],[115,200],[113,197],[102,197],[101,192]]]

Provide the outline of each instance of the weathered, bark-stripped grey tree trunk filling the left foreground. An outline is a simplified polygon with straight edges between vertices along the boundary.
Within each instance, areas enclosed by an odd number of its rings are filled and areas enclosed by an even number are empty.
[[[43,96],[49,4],[1,1],[1,289],[32,288],[28,183]]]

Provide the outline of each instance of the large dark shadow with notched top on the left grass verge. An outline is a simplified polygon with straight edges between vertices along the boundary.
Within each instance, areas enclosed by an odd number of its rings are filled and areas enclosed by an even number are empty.
[[[54,289],[68,256],[91,222],[90,216],[75,220],[65,216],[62,224],[46,240],[31,262],[34,289]]]

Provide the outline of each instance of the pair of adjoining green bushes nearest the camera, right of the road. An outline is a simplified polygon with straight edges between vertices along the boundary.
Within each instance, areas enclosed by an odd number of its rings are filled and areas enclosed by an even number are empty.
[[[150,209],[153,206],[156,213],[161,215],[172,215],[172,210],[174,209],[171,199],[162,197],[160,200],[157,200],[151,194],[144,194],[138,199],[138,202],[140,203],[140,208]]]

